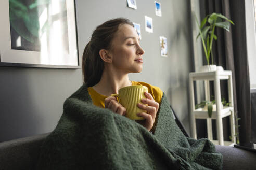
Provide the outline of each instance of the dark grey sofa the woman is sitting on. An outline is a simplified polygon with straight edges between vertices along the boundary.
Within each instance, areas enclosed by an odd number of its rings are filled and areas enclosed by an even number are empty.
[[[0,169],[34,169],[40,146],[49,133],[0,143]],[[216,145],[223,154],[223,169],[256,169],[256,153],[239,148]]]

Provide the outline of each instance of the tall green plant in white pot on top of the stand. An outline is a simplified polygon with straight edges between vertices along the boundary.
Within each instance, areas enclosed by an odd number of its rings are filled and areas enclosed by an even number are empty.
[[[199,28],[199,33],[197,38],[200,36],[202,40],[204,55],[206,56],[207,66],[203,66],[201,71],[215,71],[216,65],[213,65],[213,52],[212,52],[212,43],[213,39],[217,40],[217,36],[214,34],[215,27],[220,27],[225,29],[229,32],[229,23],[234,23],[226,18],[225,16],[221,15],[221,13],[211,13],[204,17],[199,25],[199,22],[196,17],[196,22]],[[207,24],[208,23],[208,24]],[[196,38],[196,39],[197,39]],[[210,65],[210,58],[211,58],[211,65]]]

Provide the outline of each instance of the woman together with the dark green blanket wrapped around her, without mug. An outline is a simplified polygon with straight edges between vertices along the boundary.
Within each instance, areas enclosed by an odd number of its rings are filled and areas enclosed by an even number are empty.
[[[36,169],[222,169],[222,155],[208,139],[183,135],[159,88],[129,80],[129,73],[142,71],[143,54],[129,20],[113,19],[96,28],[83,54],[84,84],[65,101]],[[154,135],[120,116],[125,108],[108,97],[135,84],[148,87],[142,100],[148,106],[138,104],[147,113],[138,116]]]

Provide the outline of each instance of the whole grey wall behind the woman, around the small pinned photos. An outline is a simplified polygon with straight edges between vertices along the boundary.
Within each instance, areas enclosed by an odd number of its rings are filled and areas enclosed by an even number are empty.
[[[130,79],[160,87],[189,130],[188,73],[193,58],[189,1],[159,1],[162,17],[155,15],[153,0],[136,2],[137,10],[127,8],[126,0],[76,1],[80,60],[97,25],[116,17],[140,23],[144,68]],[[145,32],[145,15],[153,18],[153,33]],[[168,58],[160,56],[159,36],[167,37]],[[0,67],[0,78],[0,141],[52,131],[64,100],[82,84],[81,69]]]

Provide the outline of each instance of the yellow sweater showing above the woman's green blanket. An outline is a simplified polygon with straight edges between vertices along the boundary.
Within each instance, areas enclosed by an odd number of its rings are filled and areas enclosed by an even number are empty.
[[[163,92],[159,87],[152,86],[152,85],[150,85],[148,83],[145,83],[145,82],[132,81],[132,86],[135,86],[135,85],[146,86],[148,88],[148,92],[152,95],[154,100],[160,104],[162,96],[163,96]],[[104,101],[105,101],[105,98],[107,98],[108,96],[99,94],[92,87],[88,88],[88,92],[89,92],[89,95],[92,98],[92,101],[93,101],[94,105],[96,105],[98,107],[105,108]]]

